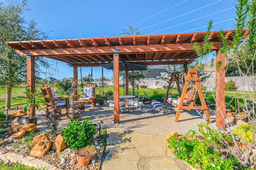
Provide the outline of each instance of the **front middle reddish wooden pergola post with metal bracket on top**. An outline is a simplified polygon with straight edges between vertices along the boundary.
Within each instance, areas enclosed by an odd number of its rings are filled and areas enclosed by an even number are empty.
[[[114,123],[119,123],[119,54],[114,49]]]

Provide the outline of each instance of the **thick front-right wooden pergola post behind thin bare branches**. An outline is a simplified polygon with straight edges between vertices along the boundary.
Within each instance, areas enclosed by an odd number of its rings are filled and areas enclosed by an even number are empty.
[[[225,128],[225,56],[216,51],[216,127]]]

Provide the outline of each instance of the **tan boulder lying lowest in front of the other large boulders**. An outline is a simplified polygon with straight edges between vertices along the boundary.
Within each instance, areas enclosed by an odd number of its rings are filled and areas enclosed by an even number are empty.
[[[36,143],[36,145],[32,148],[32,150],[30,151],[30,156],[36,156],[36,157],[41,157],[44,154],[46,154],[46,152],[48,152],[48,150],[51,147],[51,142],[50,141],[44,141],[44,142],[38,142]]]

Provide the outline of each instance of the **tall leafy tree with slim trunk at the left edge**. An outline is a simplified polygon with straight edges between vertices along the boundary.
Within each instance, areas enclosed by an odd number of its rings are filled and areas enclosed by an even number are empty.
[[[22,16],[24,11],[28,10],[26,2],[0,2],[0,86],[7,87],[6,108],[10,108],[12,87],[26,79],[26,57],[20,56],[8,47],[6,42],[47,38],[45,32],[36,28],[34,20],[26,21]],[[48,62],[42,57],[36,57],[36,70],[39,70],[39,65],[46,66]]]

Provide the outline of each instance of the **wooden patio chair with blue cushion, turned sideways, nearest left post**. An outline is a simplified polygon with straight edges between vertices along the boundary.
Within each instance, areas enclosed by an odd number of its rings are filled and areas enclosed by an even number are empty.
[[[41,88],[41,91],[44,96],[44,100],[48,103],[46,106],[46,113],[49,113],[49,110],[52,109],[54,106],[59,108],[60,114],[61,109],[66,109],[66,117],[68,117],[68,109],[69,109],[69,98],[57,98],[54,91],[51,90],[49,86],[44,86]]]

